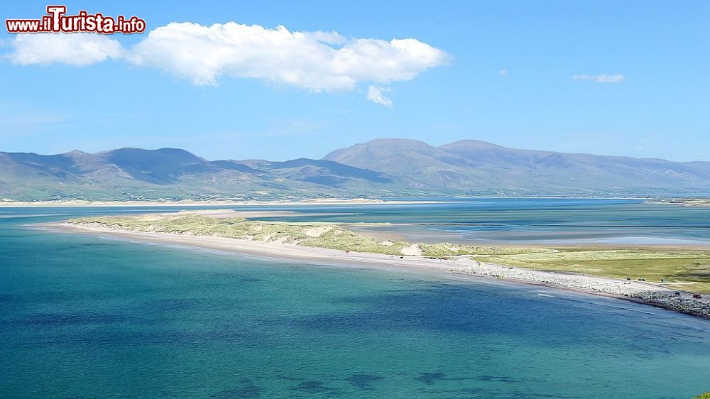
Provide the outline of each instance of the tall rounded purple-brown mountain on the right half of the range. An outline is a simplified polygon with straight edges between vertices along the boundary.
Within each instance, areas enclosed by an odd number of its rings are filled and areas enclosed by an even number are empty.
[[[433,147],[386,138],[333,151],[324,159],[468,194],[710,194],[709,162],[516,150],[476,140]]]

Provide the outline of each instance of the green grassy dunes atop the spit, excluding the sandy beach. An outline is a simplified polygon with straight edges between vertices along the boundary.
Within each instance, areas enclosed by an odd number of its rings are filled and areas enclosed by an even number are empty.
[[[320,222],[263,222],[214,218],[199,214],[87,217],[72,224],[111,229],[191,236],[278,242],[342,251],[383,253],[393,256],[420,255],[432,258],[470,256],[488,263],[501,263],[537,270],[568,271],[611,278],[644,278],[672,288],[710,293],[710,251],[678,248],[493,248],[458,244],[411,244],[375,239],[346,229],[345,224]]]

